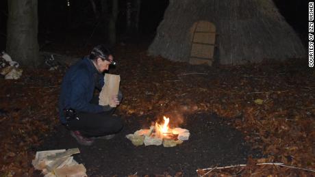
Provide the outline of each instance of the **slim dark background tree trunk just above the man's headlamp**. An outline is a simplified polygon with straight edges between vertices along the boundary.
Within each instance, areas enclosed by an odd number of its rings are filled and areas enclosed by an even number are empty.
[[[112,16],[108,24],[110,44],[116,44],[116,20],[118,16],[118,0],[112,0]]]

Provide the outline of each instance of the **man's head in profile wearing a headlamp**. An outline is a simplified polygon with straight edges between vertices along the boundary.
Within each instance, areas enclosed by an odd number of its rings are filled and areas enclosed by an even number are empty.
[[[92,49],[90,59],[92,59],[99,72],[104,72],[108,70],[114,58],[110,49],[103,45],[98,45]]]

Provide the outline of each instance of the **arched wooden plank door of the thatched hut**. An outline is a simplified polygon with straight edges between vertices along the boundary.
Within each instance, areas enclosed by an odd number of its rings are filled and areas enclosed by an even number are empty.
[[[208,64],[212,66],[216,27],[208,21],[198,21],[192,25],[190,64]]]

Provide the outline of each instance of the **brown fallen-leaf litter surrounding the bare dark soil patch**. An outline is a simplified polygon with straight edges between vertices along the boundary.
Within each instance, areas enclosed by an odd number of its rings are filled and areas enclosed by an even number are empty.
[[[68,54],[84,52],[88,49]],[[255,165],[277,162],[315,169],[315,71],[307,67],[306,59],[283,64],[190,66],[148,57],[144,47],[136,44],[117,46],[115,56],[119,65],[110,72],[121,75],[125,95],[120,114],[155,115],[155,121],[164,114],[216,113],[241,131],[251,148],[266,156],[249,157],[242,169],[200,174],[315,175],[303,169]],[[36,147],[59,126],[56,107],[63,74],[25,69],[19,80],[0,79],[1,174],[34,173],[30,163]]]

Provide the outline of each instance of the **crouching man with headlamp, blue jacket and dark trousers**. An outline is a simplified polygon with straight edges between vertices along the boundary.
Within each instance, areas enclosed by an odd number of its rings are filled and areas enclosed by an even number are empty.
[[[114,107],[98,104],[95,88],[104,85],[103,72],[113,62],[112,53],[103,45],[95,46],[89,56],[71,66],[62,80],[59,100],[60,121],[81,145],[90,146],[96,138],[110,139],[123,128]],[[113,95],[112,104],[119,105],[123,95]]]

